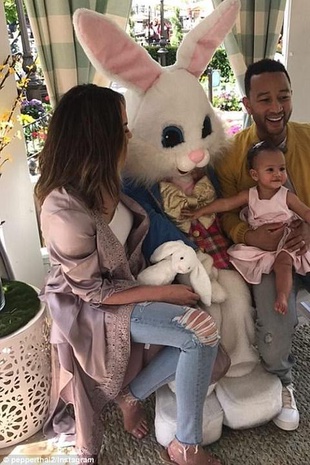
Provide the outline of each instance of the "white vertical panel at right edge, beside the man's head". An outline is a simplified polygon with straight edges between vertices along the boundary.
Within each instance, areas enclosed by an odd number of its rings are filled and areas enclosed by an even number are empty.
[[[293,89],[292,121],[310,122],[310,0],[287,0],[284,56]]]

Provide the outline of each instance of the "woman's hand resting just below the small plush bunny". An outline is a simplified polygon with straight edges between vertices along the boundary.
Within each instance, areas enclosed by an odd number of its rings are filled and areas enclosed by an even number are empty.
[[[190,286],[186,286],[185,284],[168,284],[166,286],[158,286],[158,297],[156,297],[156,300],[193,307],[197,305],[199,298],[199,295]]]

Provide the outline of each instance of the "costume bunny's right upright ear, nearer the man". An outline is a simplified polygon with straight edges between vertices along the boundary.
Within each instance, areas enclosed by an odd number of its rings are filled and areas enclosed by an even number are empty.
[[[184,37],[175,67],[186,69],[197,78],[210,62],[215,50],[236,22],[239,0],[224,0],[209,16]]]

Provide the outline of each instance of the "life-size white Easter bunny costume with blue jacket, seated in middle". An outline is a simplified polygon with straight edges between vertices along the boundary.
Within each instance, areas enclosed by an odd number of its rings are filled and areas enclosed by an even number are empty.
[[[239,0],[224,0],[185,36],[176,63],[165,68],[104,15],[85,9],[74,14],[77,37],[92,64],[128,89],[125,98],[133,138],[125,192],[149,214],[150,231],[144,241],[147,258],[165,242],[182,240],[195,250],[202,248],[197,255],[210,268],[208,250],[199,243],[197,246],[194,239],[212,236],[217,218],[207,218],[206,224],[180,225],[177,213],[171,214],[169,198],[173,196],[174,212],[178,212],[188,197],[197,201],[206,191],[211,192],[211,198],[215,196],[209,166],[226,139],[222,122],[198,78],[236,21],[239,6]],[[202,169],[205,174],[196,181],[194,174]],[[213,258],[215,263],[215,255]],[[221,436],[223,424],[251,427],[270,420],[281,409],[281,383],[265,372],[253,347],[254,319],[248,287],[232,269],[217,269],[215,274],[226,299],[213,301],[207,311],[220,329],[231,367],[206,398],[205,444]],[[173,389],[172,383],[156,393],[155,431],[163,446],[176,431]]]

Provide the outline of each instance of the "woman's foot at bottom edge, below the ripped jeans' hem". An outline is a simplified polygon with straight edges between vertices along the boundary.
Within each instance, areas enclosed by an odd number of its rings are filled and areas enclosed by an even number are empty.
[[[175,465],[221,465],[221,462],[210,455],[199,445],[188,446],[174,439],[167,450],[161,453],[164,463]]]

